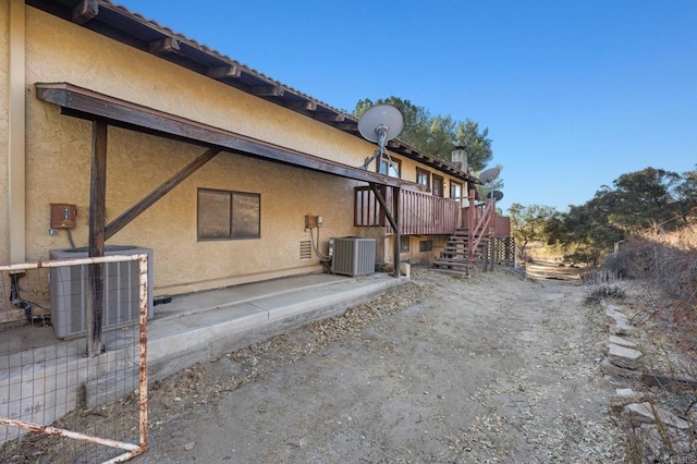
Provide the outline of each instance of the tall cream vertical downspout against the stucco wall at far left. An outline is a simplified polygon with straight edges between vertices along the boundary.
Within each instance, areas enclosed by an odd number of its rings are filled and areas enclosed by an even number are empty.
[[[23,0],[10,0],[8,83],[8,251],[10,262],[22,262],[26,259],[25,8]]]

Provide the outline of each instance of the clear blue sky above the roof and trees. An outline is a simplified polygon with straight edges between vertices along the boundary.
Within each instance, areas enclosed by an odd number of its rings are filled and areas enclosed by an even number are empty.
[[[489,129],[500,203],[582,205],[697,164],[697,1],[122,0],[333,107],[396,96]]]

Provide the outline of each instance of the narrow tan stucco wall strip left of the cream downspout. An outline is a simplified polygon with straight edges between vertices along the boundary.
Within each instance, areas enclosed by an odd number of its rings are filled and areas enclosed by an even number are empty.
[[[9,259],[8,237],[8,123],[10,88],[10,3],[0,2],[0,262]]]

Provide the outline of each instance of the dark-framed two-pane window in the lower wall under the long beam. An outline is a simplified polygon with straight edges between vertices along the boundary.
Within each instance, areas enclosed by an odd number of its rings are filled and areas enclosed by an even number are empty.
[[[198,190],[199,241],[261,236],[261,195],[212,188]]]

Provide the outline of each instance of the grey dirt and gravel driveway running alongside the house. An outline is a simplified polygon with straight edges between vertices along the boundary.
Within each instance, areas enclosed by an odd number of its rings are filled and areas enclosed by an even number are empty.
[[[158,382],[133,462],[623,462],[602,309],[577,269],[529,271],[413,269],[344,316]]]

